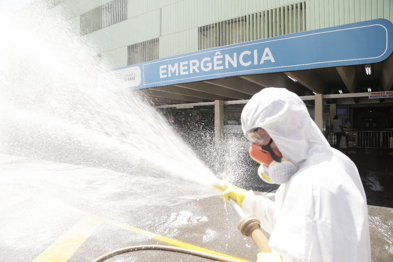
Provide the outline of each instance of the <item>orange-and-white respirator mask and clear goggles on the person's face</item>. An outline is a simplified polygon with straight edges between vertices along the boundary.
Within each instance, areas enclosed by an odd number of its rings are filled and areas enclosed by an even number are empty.
[[[258,129],[247,132],[246,138],[252,142],[249,150],[251,158],[261,164],[258,168],[259,177],[269,184],[287,183],[296,173],[296,166],[270,147],[273,142],[271,138],[268,144],[261,146],[268,135],[259,135]]]

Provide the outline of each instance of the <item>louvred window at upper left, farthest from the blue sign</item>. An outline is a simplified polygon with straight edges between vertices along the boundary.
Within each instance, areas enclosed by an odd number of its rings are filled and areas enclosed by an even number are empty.
[[[81,35],[127,19],[127,0],[112,0],[81,15]]]

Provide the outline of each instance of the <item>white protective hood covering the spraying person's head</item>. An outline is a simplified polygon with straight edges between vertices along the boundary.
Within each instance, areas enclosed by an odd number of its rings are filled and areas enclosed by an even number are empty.
[[[244,107],[241,122],[244,134],[265,129],[283,157],[295,165],[311,155],[331,153],[303,101],[286,89],[270,87],[255,94]]]

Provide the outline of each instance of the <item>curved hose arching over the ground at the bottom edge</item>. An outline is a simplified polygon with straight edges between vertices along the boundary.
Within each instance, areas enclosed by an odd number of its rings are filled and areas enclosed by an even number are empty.
[[[208,253],[204,253],[201,251],[195,251],[192,249],[186,249],[186,248],[182,248],[182,247],[172,247],[169,245],[134,245],[132,247],[124,247],[124,248],[117,249],[112,252],[106,253],[105,255],[102,255],[99,258],[96,258],[92,262],[102,262],[102,261],[107,260],[108,258],[111,258],[112,256],[117,256],[117,255],[124,254],[124,253],[129,253],[129,252],[133,252],[133,251],[142,251],[142,250],[158,250],[158,251],[177,252],[177,253],[183,253],[183,254],[187,254],[187,255],[199,256],[202,258],[207,258],[207,259],[221,261],[221,262],[239,262],[239,261],[241,261],[241,260],[236,260],[233,258],[226,258],[224,256],[208,254]]]

